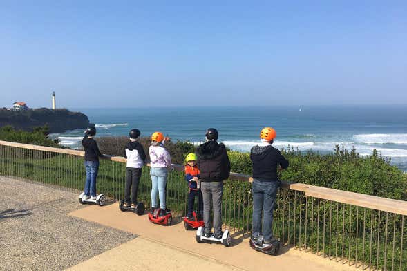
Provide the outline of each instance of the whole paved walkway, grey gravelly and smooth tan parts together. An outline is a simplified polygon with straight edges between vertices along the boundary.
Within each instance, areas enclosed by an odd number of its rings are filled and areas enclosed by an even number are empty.
[[[267,256],[234,236],[198,244],[182,223],[149,223],[117,203],[80,205],[77,193],[0,176],[0,270],[354,270],[296,250]]]

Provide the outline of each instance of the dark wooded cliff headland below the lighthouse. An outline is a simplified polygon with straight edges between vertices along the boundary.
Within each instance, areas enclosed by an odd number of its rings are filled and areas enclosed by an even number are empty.
[[[86,115],[67,109],[46,108],[27,111],[0,109],[0,127],[10,125],[15,129],[31,131],[35,127],[48,126],[50,133],[60,133],[72,129],[85,129],[89,124]]]

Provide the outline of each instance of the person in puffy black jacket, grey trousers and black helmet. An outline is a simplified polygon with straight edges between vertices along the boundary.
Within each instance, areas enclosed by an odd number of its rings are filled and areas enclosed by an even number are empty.
[[[200,189],[204,203],[204,235],[211,236],[211,203],[214,205],[214,236],[222,237],[222,195],[223,180],[229,178],[230,161],[226,147],[218,143],[218,131],[214,128],[207,129],[205,134],[207,142],[200,144],[198,165],[200,169]]]

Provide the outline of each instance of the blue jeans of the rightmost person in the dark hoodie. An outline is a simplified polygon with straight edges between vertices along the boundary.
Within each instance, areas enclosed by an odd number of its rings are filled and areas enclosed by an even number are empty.
[[[264,236],[265,241],[270,241],[273,236],[272,223],[273,212],[276,206],[276,196],[280,181],[261,182],[254,179],[252,183],[253,193],[253,230],[252,235],[258,237]],[[261,227],[261,216],[263,211],[263,231]]]

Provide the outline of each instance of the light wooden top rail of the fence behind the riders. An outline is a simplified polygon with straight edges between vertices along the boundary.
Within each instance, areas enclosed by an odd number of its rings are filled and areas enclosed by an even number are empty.
[[[76,151],[72,149],[59,149],[53,147],[43,147],[31,144],[21,144],[16,142],[1,141],[0,145],[17,147],[21,149],[32,149],[37,151],[49,151],[53,153],[64,153],[73,156],[84,156],[84,151]],[[126,162],[126,158],[120,156],[108,156],[102,157],[104,160],[111,160],[115,162]],[[173,164],[174,169],[182,171],[184,166]],[[249,181],[250,176],[246,174],[237,174],[231,172],[229,179]],[[407,216],[407,201],[393,200],[390,198],[381,198],[378,196],[369,196],[365,194],[353,193],[349,191],[342,191],[337,189],[318,187],[315,185],[307,185],[303,183],[291,183],[282,181],[282,187],[285,189],[291,189],[295,191],[302,191],[305,196],[312,196],[314,198],[321,198],[324,200],[332,200],[334,202],[346,203],[350,205],[356,205],[360,207],[366,207],[370,209],[377,209],[384,212],[390,212],[395,214],[401,214]]]

